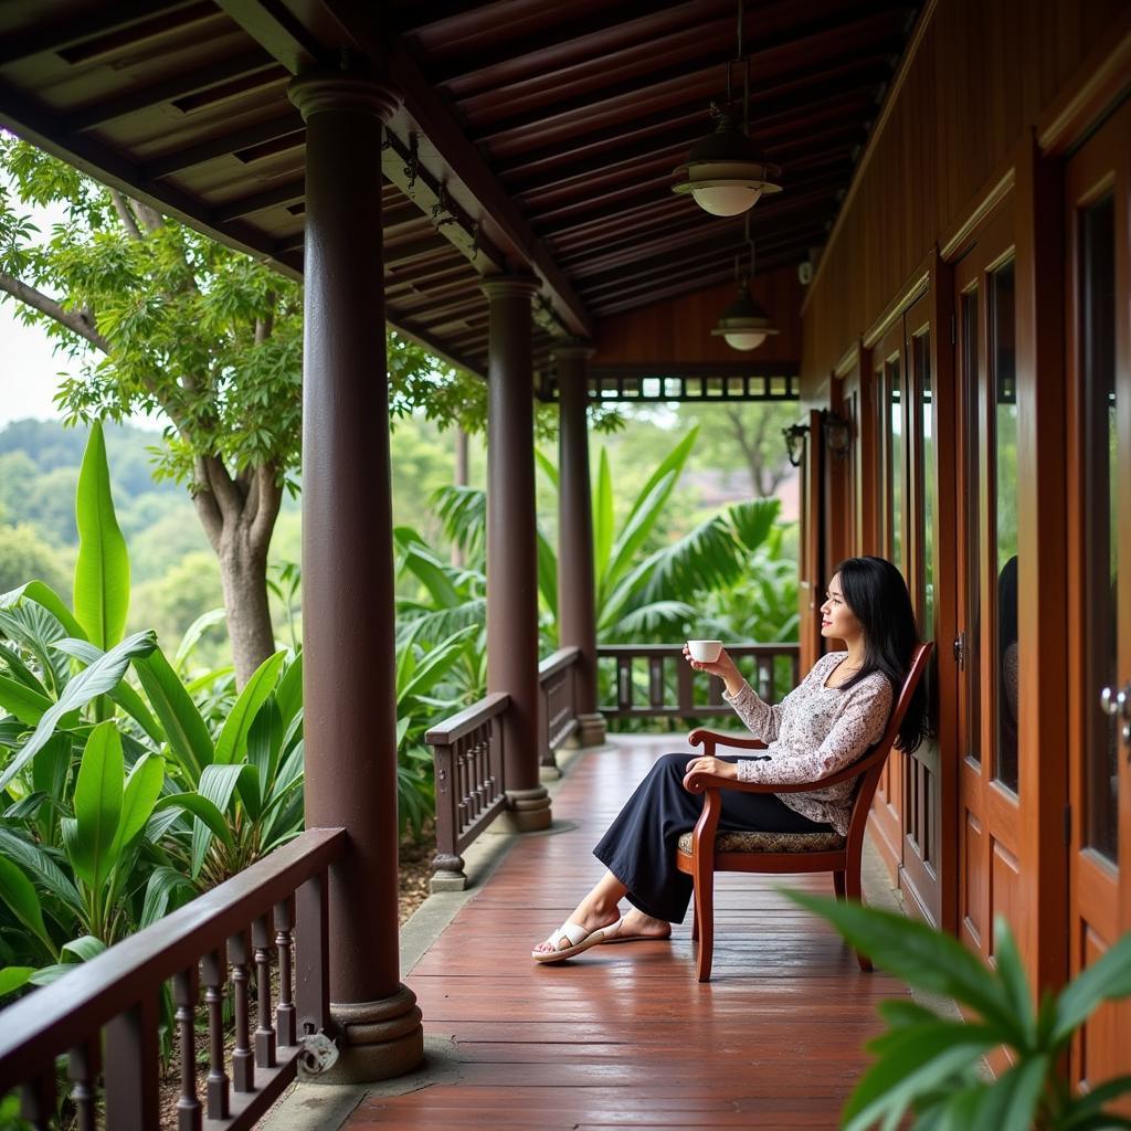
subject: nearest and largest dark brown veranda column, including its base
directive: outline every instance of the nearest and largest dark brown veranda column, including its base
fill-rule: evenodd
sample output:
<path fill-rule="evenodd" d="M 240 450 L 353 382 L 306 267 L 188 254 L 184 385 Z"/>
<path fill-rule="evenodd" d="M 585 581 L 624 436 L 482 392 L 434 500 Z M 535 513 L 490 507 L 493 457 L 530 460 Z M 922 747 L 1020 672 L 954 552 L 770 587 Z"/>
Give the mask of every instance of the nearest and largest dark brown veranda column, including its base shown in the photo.
<path fill-rule="evenodd" d="M 331 1082 L 423 1059 L 400 984 L 389 397 L 381 259 L 382 123 L 391 88 L 296 78 L 307 122 L 302 579 L 308 827 L 349 840 L 330 878 Z M 326 1077 L 320 1078 L 326 1079 Z"/>

